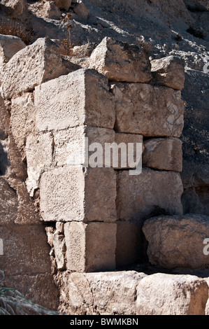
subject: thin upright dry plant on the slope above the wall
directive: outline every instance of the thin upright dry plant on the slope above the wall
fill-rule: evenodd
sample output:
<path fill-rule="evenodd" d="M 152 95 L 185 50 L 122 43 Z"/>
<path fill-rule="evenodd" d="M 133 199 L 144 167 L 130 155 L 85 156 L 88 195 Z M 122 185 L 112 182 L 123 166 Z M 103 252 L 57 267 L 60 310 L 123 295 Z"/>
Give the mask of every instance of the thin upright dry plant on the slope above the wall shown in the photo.
<path fill-rule="evenodd" d="M 71 29 L 73 29 L 72 23 L 72 14 L 67 13 L 63 17 L 60 18 L 61 22 L 66 24 L 66 29 L 68 32 L 67 38 L 62 40 L 62 44 L 60 46 L 60 50 L 62 55 L 71 55 L 71 49 L 73 48 L 72 40 L 71 40 Z"/>

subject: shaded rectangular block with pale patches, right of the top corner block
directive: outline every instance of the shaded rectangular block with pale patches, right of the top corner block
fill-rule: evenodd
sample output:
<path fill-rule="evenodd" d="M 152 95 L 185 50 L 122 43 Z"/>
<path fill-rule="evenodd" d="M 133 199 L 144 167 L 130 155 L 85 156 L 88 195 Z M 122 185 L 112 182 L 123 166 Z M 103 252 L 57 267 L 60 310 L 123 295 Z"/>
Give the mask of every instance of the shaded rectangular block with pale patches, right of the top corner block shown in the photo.
<path fill-rule="evenodd" d="M 117 83 L 113 93 L 117 132 L 180 137 L 184 125 L 180 91 L 143 83 Z"/>

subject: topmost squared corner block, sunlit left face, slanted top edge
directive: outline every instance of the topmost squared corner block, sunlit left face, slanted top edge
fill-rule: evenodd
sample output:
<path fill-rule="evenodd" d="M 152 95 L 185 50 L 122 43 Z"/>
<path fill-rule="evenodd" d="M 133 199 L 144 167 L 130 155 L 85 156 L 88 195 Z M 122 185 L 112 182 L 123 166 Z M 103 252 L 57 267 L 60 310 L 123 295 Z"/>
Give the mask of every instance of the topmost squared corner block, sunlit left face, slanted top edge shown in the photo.
<path fill-rule="evenodd" d="M 113 129 L 115 124 L 108 79 L 94 70 L 80 69 L 36 87 L 35 106 L 40 131 L 79 125 Z"/>

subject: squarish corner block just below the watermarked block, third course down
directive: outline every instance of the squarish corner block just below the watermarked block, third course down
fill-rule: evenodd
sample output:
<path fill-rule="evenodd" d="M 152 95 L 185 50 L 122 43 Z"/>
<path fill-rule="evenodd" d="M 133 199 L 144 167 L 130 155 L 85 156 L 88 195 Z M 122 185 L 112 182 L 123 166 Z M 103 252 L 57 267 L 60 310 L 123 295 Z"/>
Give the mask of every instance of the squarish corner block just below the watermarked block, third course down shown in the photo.
<path fill-rule="evenodd" d="M 44 221 L 116 219 L 116 174 L 113 168 L 59 167 L 44 172 L 40 183 Z"/>

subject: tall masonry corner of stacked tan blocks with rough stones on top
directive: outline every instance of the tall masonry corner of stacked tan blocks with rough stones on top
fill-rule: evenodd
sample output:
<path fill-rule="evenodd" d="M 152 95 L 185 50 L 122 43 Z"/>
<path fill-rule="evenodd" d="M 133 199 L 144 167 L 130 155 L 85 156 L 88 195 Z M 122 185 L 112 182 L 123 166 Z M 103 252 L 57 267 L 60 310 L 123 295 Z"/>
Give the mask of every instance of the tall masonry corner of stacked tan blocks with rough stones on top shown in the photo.
<path fill-rule="evenodd" d="M 27 159 L 27 189 L 31 197 L 37 193 L 40 197 L 43 221 L 63 227 L 52 239 L 55 266 L 75 272 L 114 270 L 142 257 L 141 228 L 147 218 L 182 214 L 179 137 L 184 103 L 179 89 L 183 74 L 180 87 L 173 85 L 175 69 L 183 71 L 182 62 L 165 59 L 166 83 L 160 80 L 157 85 L 152 83 L 151 64 L 142 48 L 105 38 L 89 57 L 90 69 L 61 75 L 64 66 L 59 55 L 55 65 L 56 45 L 50 48 L 54 55 L 47 57 L 51 43 L 38 39 L 17 52 L 5 65 L 3 76 L 4 97 L 13 97 L 13 120 L 20 109 L 22 120 L 29 123 L 21 138 L 18 125 L 13 127 L 22 157 Z M 40 64 L 30 59 L 21 83 L 8 88 L 14 63 L 18 56 L 27 60 L 31 47 L 49 58 L 52 67 L 48 62 L 43 65 L 41 58 Z M 31 69 L 37 72 L 36 80 L 30 76 Z M 134 80 L 132 71 L 136 71 Z M 25 99 L 29 104 L 24 111 Z M 89 144 L 102 146 L 142 143 L 141 174 L 131 176 L 129 166 L 115 166 L 112 160 L 105 167 L 104 158 L 100 167 L 83 167 L 88 151 L 85 137 Z M 90 156 L 91 152 L 88 160 Z"/>

